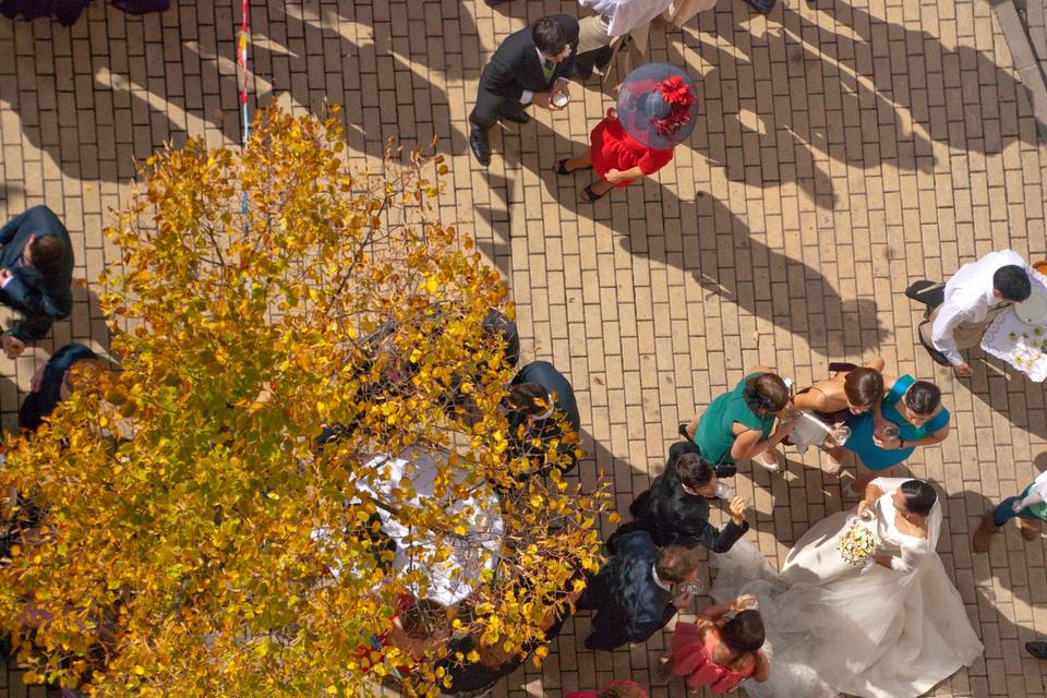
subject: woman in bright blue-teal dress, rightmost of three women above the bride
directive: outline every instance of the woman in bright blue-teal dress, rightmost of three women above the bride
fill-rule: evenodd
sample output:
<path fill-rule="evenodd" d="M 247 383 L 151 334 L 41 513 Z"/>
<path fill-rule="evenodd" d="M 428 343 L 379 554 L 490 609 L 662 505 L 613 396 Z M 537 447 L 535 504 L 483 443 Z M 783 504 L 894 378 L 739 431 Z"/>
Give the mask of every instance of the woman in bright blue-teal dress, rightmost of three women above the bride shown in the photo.
<path fill-rule="evenodd" d="M 845 423 L 851 437 L 844 448 L 870 471 L 851 483 L 857 494 L 883 470 L 908 458 L 916 446 L 938 444 L 949 436 L 949 410 L 941 406 L 941 390 L 911 375 L 894 381 L 871 411 L 854 414 Z"/>

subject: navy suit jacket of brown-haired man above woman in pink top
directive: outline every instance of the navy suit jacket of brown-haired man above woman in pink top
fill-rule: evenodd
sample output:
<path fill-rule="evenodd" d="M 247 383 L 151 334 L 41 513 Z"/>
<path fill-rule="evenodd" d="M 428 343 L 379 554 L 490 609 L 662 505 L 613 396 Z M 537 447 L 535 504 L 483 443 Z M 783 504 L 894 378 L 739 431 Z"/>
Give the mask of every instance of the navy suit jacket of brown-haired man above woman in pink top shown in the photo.
<path fill-rule="evenodd" d="M 619 618 L 623 639 L 642 642 L 676 615 L 673 594 L 654 581 L 658 546 L 647 531 L 634 531 L 619 535 L 611 553 L 577 606 Z"/>

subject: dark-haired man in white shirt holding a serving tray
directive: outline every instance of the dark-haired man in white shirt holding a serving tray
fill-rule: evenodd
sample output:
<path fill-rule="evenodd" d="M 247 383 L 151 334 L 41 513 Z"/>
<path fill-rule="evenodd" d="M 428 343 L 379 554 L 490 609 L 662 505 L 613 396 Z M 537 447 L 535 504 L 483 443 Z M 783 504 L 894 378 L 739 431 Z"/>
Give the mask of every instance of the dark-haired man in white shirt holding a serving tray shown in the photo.
<path fill-rule="evenodd" d="M 928 306 L 919 341 L 931 359 L 967 377 L 973 371 L 960 352 L 977 347 L 996 316 L 1027 299 L 1031 290 L 1025 261 L 1013 250 L 1002 250 L 964 264 L 943 289 L 917 281 L 905 294 Z"/>

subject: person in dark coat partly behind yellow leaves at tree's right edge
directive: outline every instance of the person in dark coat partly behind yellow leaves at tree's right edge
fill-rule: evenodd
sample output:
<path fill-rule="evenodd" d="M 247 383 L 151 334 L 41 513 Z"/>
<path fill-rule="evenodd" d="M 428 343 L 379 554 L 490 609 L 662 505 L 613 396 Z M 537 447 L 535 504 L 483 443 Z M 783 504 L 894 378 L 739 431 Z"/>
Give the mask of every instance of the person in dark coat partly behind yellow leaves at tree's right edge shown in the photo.
<path fill-rule="evenodd" d="M 581 417 L 575 390 L 563 373 L 547 361 L 532 361 L 514 376 L 506 400 L 509 409 L 509 440 L 514 456 L 531 460 L 530 474 L 546 474 L 552 469 L 545 466 L 545 444 L 558 440 L 557 453 L 567 459 L 561 466 L 568 472 L 578 465 L 575 453 Z M 561 424 L 566 422 L 573 434 L 565 434 Z M 535 440 L 541 444 L 534 445 Z"/>

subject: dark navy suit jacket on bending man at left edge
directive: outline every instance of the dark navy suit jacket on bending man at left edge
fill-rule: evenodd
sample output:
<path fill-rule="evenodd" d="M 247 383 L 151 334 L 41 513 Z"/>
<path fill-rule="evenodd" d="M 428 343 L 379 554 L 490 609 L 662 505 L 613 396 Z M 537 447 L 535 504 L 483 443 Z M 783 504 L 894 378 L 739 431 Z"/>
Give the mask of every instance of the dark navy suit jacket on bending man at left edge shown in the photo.
<path fill-rule="evenodd" d="M 41 274 L 35 267 L 20 264 L 25 245 L 34 233 L 56 236 L 62 241 L 65 252 L 57 270 Z M 3 245 L 0 267 L 14 274 L 14 278 L 0 289 L 0 302 L 25 315 L 11 334 L 23 341 L 39 339 L 50 328 L 50 321 L 69 317 L 73 308 L 73 248 L 69 232 L 50 208 L 34 206 L 0 228 L 0 245 Z"/>

